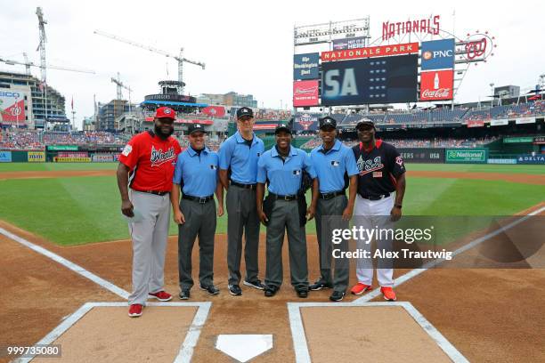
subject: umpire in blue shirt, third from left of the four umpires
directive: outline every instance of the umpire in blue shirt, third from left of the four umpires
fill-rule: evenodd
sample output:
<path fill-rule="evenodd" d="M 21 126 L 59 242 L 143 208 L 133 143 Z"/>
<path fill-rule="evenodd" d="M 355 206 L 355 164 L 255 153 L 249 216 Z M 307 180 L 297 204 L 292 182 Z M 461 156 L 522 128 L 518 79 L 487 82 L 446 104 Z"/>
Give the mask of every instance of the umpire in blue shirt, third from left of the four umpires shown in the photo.
<path fill-rule="evenodd" d="M 257 172 L 257 211 L 261 222 L 267 226 L 265 296 L 273 296 L 282 284 L 282 245 L 284 232 L 288 230 L 289 270 L 291 285 L 299 297 L 308 295 L 308 266 L 306 261 L 305 224 L 301 214 L 311 219 L 315 206 L 301 210 L 305 193 L 299 193 L 304 171 L 313 179 L 313 195 L 318 181 L 310 157 L 305 151 L 290 145 L 291 130 L 279 126 L 275 130 L 276 146 L 259 157 Z M 265 201 L 264 187 L 268 183 L 269 194 Z M 304 204 L 306 206 L 306 204 Z M 304 208 L 304 207 L 303 207 Z"/>

